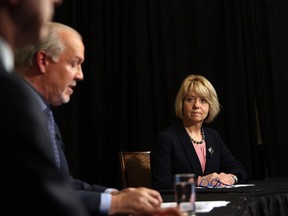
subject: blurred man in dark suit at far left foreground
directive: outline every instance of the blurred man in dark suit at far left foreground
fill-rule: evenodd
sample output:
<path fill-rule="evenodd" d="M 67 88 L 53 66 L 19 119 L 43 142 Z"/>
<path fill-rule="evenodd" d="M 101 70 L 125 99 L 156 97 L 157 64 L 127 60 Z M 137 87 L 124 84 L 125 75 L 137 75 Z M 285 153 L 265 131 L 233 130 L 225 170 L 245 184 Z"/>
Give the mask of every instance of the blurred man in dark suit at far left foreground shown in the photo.
<path fill-rule="evenodd" d="M 14 49 L 38 41 L 60 3 L 0 0 L 1 211 L 8 215 L 86 215 L 53 163 L 35 93 L 13 74 Z"/>

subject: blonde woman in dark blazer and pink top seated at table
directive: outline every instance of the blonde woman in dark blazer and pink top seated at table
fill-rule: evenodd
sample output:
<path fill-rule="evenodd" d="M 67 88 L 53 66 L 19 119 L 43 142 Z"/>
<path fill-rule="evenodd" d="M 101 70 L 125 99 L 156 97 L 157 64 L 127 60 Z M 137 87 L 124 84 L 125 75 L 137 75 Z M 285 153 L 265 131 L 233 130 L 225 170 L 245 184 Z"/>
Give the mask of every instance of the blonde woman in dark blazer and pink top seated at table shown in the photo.
<path fill-rule="evenodd" d="M 245 168 L 219 133 L 203 126 L 213 121 L 219 110 L 217 93 L 205 77 L 184 79 L 175 100 L 179 122 L 161 132 L 151 150 L 153 188 L 172 189 L 178 173 L 194 173 L 197 185 L 215 178 L 227 185 L 246 180 Z"/>

